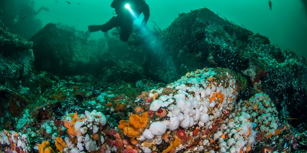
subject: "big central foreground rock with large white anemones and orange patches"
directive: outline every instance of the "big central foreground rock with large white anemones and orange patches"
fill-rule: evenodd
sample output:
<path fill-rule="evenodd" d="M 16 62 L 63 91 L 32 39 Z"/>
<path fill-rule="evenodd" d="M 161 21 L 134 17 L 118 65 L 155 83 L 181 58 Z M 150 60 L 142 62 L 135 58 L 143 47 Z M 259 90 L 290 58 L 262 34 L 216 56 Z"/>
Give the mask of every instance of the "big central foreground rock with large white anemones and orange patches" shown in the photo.
<path fill-rule="evenodd" d="M 165 90 L 169 92 L 164 92 Z M 141 96 L 142 99 L 136 103 L 144 107 L 146 114 L 149 111 L 161 113 L 163 108 L 167 116 L 153 113 L 146 128 L 138 130 L 140 134 L 128 136 L 136 138 L 139 148 L 143 151 L 169 152 L 189 148 L 196 148 L 198 151 L 214 150 L 214 146 L 218 145 L 217 138 L 222 136 L 221 131 L 225 130 L 221 125 L 228 122 L 229 113 L 224 112 L 233 109 L 237 94 L 236 81 L 227 69 L 202 69 L 187 73 L 165 88 L 151 90 L 147 96 L 155 97 L 152 102 L 143 100 L 145 95 Z M 131 116 L 129 122 L 136 122 Z M 121 122 L 119 128 L 123 129 L 125 134 L 128 131 L 133 132 L 124 124 L 127 121 Z M 206 129 L 209 131 L 204 133 Z M 248 139 L 249 135 L 246 137 Z M 170 141 L 162 143 L 166 139 Z M 199 146 L 199 142 L 210 139 L 213 140 L 210 146 L 206 143 Z M 240 146 L 236 148 L 237 151 L 242 149 L 243 144 Z"/>

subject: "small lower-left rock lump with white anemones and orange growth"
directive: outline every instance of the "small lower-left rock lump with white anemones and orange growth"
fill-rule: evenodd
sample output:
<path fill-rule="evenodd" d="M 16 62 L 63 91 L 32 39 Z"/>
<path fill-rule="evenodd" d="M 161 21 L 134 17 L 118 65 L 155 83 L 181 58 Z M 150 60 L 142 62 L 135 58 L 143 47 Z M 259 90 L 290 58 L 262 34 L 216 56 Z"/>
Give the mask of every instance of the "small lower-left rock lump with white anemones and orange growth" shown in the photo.
<path fill-rule="evenodd" d="M 64 119 L 68 135 L 64 138 L 66 147 L 61 147 L 64 152 L 77 148 L 80 151 L 97 151 L 104 143 L 102 127 L 106 125 L 106 117 L 101 112 L 93 110 L 84 114 L 69 114 Z M 62 145 L 63 146 L 63 145 Z"/>

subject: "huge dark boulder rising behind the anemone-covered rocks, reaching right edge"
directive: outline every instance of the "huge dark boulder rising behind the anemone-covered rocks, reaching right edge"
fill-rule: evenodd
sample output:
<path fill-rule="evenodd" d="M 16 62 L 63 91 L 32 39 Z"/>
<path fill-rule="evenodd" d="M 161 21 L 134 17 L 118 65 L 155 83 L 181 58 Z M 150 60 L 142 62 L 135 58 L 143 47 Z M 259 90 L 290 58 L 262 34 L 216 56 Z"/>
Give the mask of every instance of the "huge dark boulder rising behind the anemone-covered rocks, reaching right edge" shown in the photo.
<path fill-rule="evenodd" d="M 288 109 L 284 118 L 307 121 L 306 60 L 209 9 L 180 14 L 150 48 L 145 73 L 156 81 L 170 83 L 205 66 L 229 68 L 247 79 L 239 96 L 268 93 L 279 111 Z"/>

